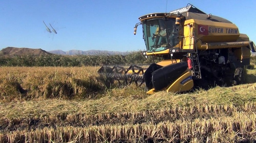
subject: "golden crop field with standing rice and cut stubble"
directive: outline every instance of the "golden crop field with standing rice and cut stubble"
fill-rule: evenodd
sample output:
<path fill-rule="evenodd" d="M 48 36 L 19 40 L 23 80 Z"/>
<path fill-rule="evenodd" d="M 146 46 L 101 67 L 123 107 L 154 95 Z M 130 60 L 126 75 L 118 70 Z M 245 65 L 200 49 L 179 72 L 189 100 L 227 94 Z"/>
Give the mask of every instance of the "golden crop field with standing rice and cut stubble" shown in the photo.
<path fill-rule="evenodd" d="M 153 95 L 97 69 L 1 67 L 0 142 L 256 141 L 254 65 L 246 84 Z"/>

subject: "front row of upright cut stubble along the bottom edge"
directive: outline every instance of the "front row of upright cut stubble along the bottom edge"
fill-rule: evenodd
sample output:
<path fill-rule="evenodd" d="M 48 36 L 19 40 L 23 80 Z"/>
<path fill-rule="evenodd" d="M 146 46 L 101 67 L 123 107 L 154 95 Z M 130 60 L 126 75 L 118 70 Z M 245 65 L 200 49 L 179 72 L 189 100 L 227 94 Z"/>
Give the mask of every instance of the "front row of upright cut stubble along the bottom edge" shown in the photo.
<path fill-rule="evenodd" d="M 0 142 L 112 142 L 160 138 L 167 141 L 238 142 L 255 139 L 256 115 L 237 112 L 232 117 L 164 121 L 158 124 L 101 125 L 88 127 L 56 127 L 17 130 L 0 133 Z"/>

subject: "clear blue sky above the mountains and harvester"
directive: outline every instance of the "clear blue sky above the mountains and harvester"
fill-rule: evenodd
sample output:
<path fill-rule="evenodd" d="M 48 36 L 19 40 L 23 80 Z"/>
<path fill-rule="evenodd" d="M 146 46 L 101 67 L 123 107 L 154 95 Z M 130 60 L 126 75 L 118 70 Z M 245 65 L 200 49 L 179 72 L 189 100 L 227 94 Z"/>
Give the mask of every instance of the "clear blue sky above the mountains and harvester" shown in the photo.
<path fill-rule="evenodd" d="M 144 50 L 141 25 L 133 35 L 138 18 L 166 12 L 166 7 L 170 12 L 187 3 L 207 14 L 226 18 L 256 42 L 255 0 L 2 0 L 0 50 Z M 58 33 L 48 33 L 43 20 Z"/>

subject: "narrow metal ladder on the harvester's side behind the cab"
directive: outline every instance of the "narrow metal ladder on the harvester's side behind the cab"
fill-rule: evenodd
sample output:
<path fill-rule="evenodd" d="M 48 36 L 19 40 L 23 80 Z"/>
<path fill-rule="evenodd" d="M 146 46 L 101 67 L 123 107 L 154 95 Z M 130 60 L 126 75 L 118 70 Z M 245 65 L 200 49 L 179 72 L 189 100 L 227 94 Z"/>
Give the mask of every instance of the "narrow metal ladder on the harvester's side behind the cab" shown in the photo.
<path fill-rule="evenodd" d="M 195 31 L 194 31 L 194 38 L 196 39 Z M 201 77 L 201 70 L 200 70 L 200 62 L 198 59 L 198 52 L 197 52 L 197 44 L 196 40 L 194 40 L 194 45 L 196 47 L 196 50 L 194 50 L 193 53 L 190 53 L 190 58 L 192 60 L 192 75 L 196 78 L 202 78 Z"/>

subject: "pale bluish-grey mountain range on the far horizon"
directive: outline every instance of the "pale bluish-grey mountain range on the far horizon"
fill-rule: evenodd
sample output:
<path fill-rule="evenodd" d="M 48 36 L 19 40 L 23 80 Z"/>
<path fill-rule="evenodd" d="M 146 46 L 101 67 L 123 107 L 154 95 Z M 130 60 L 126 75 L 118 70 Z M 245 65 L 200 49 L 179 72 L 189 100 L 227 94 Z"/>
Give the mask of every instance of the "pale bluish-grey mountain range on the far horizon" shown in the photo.
<path fill-rule="evenodd" d="M 117 51 L 101 51 L 101 50 L 69 50 L 64 52 L 62 50 L 48 51 L 49 53 L 59 54 L 59 55 L 127 55 L 129 52 L 117 52 Z"/>

